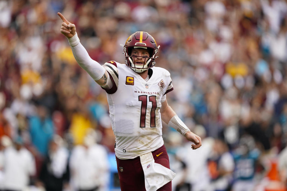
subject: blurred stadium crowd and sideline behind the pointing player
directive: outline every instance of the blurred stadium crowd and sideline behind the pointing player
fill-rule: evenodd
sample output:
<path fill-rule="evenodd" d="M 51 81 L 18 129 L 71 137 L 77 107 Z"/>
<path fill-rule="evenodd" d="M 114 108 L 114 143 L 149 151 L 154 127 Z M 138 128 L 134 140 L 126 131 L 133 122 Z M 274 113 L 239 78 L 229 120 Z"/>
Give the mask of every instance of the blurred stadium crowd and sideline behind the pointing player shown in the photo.
<path fill-rule="evenodd" d="M 0 190 L 120 190 L 106 93 L 60 33 L 61 12 L 100 64 L 130 34 L 160 44 L 175 191 L 286 190 L 285 0 L 0 0 Z"/>

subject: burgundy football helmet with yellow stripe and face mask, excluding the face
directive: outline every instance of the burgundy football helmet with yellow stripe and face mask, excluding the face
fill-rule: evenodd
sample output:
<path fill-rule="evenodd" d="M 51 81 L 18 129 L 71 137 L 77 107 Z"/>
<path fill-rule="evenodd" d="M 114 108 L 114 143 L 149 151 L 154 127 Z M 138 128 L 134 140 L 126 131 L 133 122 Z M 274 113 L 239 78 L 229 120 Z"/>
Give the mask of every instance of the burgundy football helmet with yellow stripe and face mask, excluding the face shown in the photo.
<path fill-rule="evenodd" d="M 155 39 L 147 32 L 138 31 L 133 33 L 126 40 L 126 44 L 123 46 L 123 51 L 126 57 L 125 64 L 132 68 L 135 72 L 143 72 L 155 65 L 156 54 L 158 53 L 158 48 Z M 143 48 L 149 51 L 149 57 L 146 56 L 132 56 L 133 48 Z M 135 58 L 144 58 L 144 65 L 135 64 Z"/>

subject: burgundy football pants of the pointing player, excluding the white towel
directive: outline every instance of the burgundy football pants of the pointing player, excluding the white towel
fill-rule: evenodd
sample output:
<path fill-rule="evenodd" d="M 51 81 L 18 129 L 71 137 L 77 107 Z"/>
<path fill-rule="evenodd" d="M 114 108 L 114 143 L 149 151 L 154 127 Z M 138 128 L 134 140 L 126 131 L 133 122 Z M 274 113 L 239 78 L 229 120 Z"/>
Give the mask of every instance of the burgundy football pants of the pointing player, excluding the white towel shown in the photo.
<path fill-rule="evenodd" d="M 170 169 L 170 161 L 164 145 L 153 151 L 152 156 L 155 159 L 155 163 Z M 122 191 L 146 191 L 144 185 L 144 170 L 141 166 L 140 157 L 126 160 L 121 160 L 116 157 L 116 159 L 117 172 L 120 178 L 120 189 Z M 122 167 L 123 172 L 120 171 L 119 167 Z M 160 187 L 158 191 L 171 191 L 171 181 Z"/>

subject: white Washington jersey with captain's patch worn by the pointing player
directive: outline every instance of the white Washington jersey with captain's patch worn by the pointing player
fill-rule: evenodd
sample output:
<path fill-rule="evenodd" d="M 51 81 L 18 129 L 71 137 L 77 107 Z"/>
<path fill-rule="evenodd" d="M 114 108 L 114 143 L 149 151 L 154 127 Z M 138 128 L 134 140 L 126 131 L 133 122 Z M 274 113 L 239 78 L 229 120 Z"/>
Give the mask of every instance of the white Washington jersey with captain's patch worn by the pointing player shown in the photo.
<path fill-rule="evenodd" d="M 113 81 L 107 92 L 112 129 L 116 136 L 116 156 L 130 159 L 161 147 L 164 141 L 161 102 L 173 90 L 170 73 L 160 67 L 149 69 L 145 81 L 125 64 L 106 62 L 103 67 Z"/>

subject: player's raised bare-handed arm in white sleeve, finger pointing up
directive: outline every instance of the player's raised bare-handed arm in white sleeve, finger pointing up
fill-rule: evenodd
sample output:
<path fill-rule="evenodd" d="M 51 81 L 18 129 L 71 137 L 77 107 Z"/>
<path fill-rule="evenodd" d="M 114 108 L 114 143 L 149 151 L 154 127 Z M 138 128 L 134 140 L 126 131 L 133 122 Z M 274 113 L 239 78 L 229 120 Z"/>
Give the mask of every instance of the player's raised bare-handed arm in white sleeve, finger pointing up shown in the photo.
<path fill-rule="evenodd" d="M 112 82 L 108 72 L 88 55 L 88 52 L 80 43 L 76 26 L 69 22 L 61 13 L 58 13 L 58 15 L 63 21 L 60 32 L 68 38 L 73 55 L 80 67 L 86 70 L 100 86 L 103 86 L 105 89 L 111 88 Z"/>

